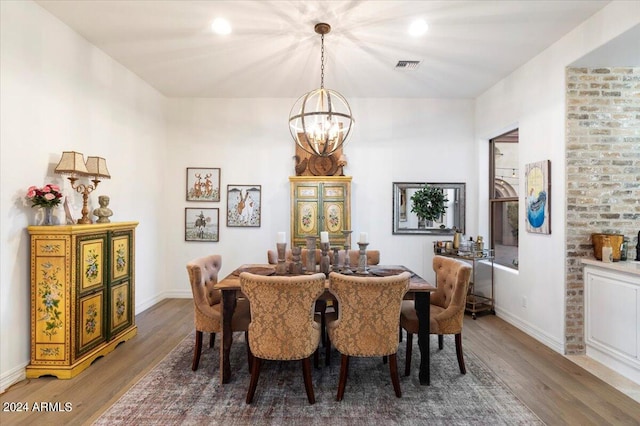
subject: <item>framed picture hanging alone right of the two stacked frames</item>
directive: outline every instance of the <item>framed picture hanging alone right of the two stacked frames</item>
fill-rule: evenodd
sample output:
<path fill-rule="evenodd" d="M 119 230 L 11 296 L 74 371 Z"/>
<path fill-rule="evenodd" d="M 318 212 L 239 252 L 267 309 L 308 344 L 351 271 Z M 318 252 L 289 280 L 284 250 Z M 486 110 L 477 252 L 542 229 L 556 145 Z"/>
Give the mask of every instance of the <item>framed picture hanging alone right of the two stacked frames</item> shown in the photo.
<path fill-rule="evenodd" d="M 262 187 L 227 185 L 227 226 L 259 227 Z"/>

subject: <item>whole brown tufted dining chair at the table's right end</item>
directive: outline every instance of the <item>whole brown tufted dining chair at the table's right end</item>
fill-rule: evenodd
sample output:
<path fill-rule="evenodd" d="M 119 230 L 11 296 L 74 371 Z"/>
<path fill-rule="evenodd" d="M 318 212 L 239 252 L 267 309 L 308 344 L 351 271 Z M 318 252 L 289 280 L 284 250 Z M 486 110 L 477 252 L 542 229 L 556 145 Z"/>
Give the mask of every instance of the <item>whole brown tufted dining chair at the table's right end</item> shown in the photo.
<path fill-rule="evenodd" d="M 462 353 L 462 323 L 465 302 L 471 277 L 471 266 L 451 257 L 434 256 L 433 270 L 436 273 L 436 291 L 430 295 L 430 334 L 438 335 L 438 348 L 443 347 L 443 335 L 453 334 L 460 373 L 466 374 Z M 400 325 L 407 331 L 407 353 L 404 375 L 411 374 L 411 349 L 413 335 L 418 333 L 418 315 L 413 300 L 402 302 Z"/>

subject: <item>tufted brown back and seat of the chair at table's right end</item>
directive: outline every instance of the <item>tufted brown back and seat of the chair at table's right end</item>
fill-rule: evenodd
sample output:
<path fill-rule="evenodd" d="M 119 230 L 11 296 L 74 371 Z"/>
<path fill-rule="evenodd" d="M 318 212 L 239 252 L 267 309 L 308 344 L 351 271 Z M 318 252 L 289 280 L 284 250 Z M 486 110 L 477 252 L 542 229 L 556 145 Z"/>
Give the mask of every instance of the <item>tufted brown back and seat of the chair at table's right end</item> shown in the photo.
<path fill-rule="evenodd" d="M 431 333 L 456 334 L 462 330 L 471 266 L 451 257 L 434 256 L 436 291 L 431 293 L 432 310 L 436 315 Z M 433 306 L 443 308 L 434 309 Z"/>

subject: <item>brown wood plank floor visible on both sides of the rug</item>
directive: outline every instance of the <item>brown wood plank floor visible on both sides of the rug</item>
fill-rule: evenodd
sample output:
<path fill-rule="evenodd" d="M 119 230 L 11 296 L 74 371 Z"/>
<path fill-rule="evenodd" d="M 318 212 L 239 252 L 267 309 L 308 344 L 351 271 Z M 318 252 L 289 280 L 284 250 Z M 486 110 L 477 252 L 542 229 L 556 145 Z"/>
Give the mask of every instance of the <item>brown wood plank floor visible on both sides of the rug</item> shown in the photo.
<path fill-rule="evenodd" d="M 71 404 L 67 412 L 0 412 L 6 425 L 91 424 L 193 331 L 189 299 L 168 299 L 136 316 L 138 336 L 71 380 L 24 380 L 5 402 Z M 640 425 L 640 404 L 498 317 L 465 318 L 463 346 L 473 351 L 549 425 Z M 239 404 L 244 401 L 238 401 Z"/>

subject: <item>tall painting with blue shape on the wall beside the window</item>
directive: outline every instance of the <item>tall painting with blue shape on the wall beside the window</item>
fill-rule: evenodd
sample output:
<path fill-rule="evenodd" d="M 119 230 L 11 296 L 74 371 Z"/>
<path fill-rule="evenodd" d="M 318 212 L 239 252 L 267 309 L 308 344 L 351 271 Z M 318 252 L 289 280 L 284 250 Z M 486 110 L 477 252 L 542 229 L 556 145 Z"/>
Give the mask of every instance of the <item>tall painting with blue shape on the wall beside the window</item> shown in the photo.
<path fill-rule="evenodd" d="M 551 162 L 529 163 L 525 173 L 527 231 L 551 234 Z"/>

